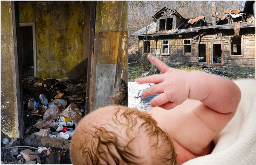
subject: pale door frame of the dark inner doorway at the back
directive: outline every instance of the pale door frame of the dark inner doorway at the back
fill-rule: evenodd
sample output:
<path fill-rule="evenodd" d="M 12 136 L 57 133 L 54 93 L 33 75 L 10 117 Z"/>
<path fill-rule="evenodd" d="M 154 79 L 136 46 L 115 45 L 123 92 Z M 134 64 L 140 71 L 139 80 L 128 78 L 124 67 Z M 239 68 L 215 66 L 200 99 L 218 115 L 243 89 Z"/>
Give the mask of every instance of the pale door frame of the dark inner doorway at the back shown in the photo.
<path fill-rule="evenodd" d="M 33 60 L 34 60 L 34 77 L 37 77 L 37 46 L 36 46 L 36 37 L 35 37 L 35 22 L 26 22 L 20 23 L 22 26 L 32 26 L 32 35 L 33 35 Z"/>

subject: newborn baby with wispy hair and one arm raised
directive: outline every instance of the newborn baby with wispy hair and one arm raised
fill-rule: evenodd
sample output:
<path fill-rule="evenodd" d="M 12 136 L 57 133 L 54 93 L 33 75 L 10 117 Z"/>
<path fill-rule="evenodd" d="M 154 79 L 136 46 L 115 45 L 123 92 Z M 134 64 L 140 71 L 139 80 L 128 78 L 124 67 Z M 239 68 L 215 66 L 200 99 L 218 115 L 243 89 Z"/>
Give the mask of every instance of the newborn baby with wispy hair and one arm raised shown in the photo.
<path fill-rule="evenodd" d="M 109 106 L 84 117 L 72 137 L 74 165 L 180 165 L 211 153 L 212 140 L 236 112 L 240 89 L 223 77 L 171 69 L 148 58 L 162 74 L 136 82 L 155 83 L 142 94 L 159 94 L 153 108 Z"/>

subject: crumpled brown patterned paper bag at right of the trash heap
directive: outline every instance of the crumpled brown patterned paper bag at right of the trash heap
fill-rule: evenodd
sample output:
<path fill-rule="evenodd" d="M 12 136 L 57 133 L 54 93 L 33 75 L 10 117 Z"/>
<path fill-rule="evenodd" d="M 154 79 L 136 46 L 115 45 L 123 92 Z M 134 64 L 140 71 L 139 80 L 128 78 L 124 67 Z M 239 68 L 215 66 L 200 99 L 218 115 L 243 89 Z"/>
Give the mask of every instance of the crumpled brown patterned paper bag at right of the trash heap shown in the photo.
<path fill-rule="evenodd" d="M 59 117 L 60 115 L 70 118 L 76 124 L 78 124 L 78 122 L 82 119 L 82 113 L 74 103 L 69 104 L 69 106 L 62 113 L 59 114 Z"/>

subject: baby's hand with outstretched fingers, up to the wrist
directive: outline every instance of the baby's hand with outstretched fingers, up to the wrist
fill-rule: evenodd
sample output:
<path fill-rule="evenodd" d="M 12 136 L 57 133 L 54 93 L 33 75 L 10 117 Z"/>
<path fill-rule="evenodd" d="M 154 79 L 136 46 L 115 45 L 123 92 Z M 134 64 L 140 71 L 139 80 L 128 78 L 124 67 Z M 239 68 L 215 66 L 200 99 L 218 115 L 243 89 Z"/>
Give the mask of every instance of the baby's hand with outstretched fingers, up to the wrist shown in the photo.
<path fill-rule="evenodd" d="M 151 106 L 159 106 L 163 109 L 173 109 L 183 103 L 188 98 L 190 90 L 189 83 L 186 82 L 187 72 L 171 69 L 152 55 L 149 55 L 148 59 L 161 70 L 162 74 L 136 80 L 138 84 L 155 83 L 155 85 L 143 92 L 142 97 L 159 94 L 151 101 Z"/>

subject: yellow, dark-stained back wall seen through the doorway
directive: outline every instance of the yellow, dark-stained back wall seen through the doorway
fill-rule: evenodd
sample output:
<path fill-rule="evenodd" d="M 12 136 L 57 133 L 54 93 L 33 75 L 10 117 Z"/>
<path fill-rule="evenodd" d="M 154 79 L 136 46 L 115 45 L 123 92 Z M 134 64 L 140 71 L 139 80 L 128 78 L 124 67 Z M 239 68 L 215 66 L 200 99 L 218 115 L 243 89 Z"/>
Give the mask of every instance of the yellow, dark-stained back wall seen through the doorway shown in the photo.
<path fill-rule="evenodd" d="M 20 22 L 36 23 L 37 78 L 65 78 L 82 61 L 83 3 L 31 4 L 21 6 Z"/>

